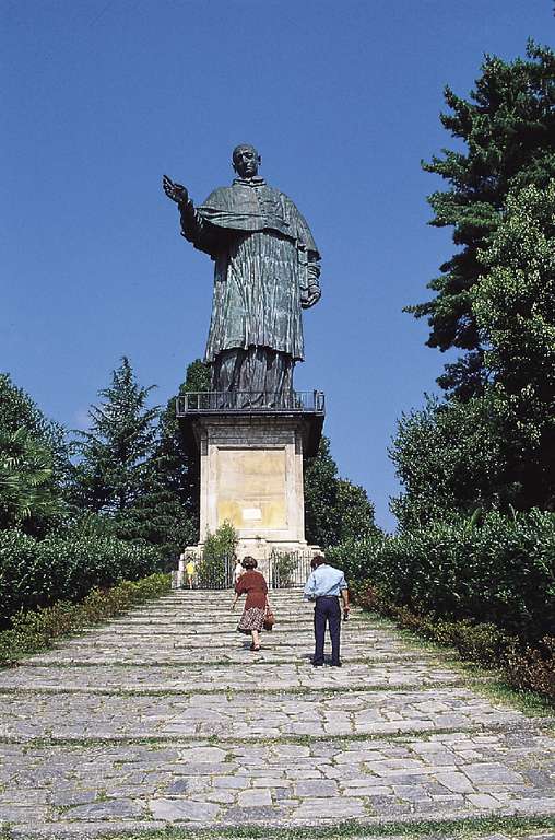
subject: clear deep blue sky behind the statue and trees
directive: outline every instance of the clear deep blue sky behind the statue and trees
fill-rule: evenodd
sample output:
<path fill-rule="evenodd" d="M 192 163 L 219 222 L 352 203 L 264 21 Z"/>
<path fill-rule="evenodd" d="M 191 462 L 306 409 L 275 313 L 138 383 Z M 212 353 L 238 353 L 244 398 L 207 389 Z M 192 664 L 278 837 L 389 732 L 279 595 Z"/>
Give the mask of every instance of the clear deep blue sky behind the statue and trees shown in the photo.
<path fill-rule="evenodd" d="M 485 51 L 553 37 L 551 0 L 0 0 L 0 370 L 83 428 L 122 354 L 165 402 L 202 354 L 212 266 L 178 235 L 160 182 L 201 201 L 238 142 L 308 218 L 322 299 L 297 389 L 328 398 L 340 472 L 389 528 L 387 448 L 446 361 L 402 314 L 451 250 L 426 225 Z"/>

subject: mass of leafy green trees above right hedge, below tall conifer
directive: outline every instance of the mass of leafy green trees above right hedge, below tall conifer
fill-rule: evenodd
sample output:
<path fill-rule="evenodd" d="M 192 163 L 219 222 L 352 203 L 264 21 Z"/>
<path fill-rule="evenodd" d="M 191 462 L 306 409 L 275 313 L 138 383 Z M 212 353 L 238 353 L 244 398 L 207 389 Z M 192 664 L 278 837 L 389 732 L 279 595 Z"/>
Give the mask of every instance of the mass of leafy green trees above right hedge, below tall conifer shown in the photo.
<path fill-rule="evenodd" d="M 403 528 L 476 506 L 555 508 L 555 180 L 509 197 L 471 294 L 487 381 L 398 423 Z"/>

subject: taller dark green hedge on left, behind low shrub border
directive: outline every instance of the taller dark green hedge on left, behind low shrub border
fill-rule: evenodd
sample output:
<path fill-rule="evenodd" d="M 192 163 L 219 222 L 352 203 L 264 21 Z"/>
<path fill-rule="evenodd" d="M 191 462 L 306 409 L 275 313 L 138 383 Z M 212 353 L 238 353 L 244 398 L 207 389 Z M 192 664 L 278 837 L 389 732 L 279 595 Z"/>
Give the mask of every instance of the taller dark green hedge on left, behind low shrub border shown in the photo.
<path fill-rule="evenodd" d="M 0 532 L 0 628 L 21 609 L 80 600 L 160 571 L 160 550 L 109 536 L 50 536 L 36 540 L 20 530 Z"/>

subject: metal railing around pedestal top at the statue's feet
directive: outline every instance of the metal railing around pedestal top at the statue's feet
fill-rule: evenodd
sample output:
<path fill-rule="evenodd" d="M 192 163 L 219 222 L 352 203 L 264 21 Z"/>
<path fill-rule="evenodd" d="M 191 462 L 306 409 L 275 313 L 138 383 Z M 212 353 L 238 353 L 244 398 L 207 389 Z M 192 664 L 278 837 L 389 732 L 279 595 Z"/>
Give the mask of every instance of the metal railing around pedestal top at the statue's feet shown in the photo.
<path fill-rule="evenodd" d="M 326 396 L 321 390 L 294 390 L 274 394 L 265 390 L 200 390 L 177 397 L 177 417 L 211 411 L 326 411 Z"/>

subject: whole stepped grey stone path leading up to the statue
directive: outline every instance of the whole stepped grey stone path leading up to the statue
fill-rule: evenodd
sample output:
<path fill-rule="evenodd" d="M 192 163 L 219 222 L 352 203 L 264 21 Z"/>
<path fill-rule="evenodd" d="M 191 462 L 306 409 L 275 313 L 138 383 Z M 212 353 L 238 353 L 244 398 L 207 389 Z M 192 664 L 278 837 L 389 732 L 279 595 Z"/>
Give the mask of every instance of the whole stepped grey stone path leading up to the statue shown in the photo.
<path fill-rule="evenodd" d="M 176 592 L 0 672 L 10 833 L 262 824 L 316 837 L 351 819 L 387 835 L 555 816 L 553 720 L 486 699 L 446 656 L 357 610 L 343 667 L 312 668 L 296 592 L 273 595 L 278 623 L 251 653 L 231 600 Z"/>

